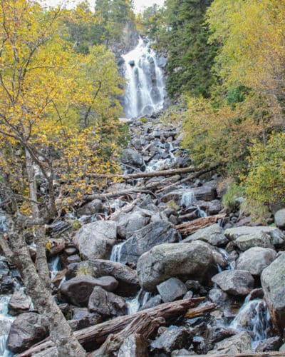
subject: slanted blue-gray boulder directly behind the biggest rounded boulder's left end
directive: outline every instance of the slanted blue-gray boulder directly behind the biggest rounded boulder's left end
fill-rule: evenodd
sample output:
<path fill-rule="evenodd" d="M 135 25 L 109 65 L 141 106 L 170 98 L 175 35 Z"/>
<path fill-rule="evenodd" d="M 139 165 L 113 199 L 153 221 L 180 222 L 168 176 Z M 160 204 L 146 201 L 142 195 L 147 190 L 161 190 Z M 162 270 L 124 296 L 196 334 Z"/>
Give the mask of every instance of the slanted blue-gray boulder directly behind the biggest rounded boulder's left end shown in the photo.
<path fill-rule="evenodd" d="M 138 258 L 153 246 L 176 241 L 175 228 L 167 221 L 150 223 L 123 243 L 120 250 L 120 261 L 136 263 Z"/>

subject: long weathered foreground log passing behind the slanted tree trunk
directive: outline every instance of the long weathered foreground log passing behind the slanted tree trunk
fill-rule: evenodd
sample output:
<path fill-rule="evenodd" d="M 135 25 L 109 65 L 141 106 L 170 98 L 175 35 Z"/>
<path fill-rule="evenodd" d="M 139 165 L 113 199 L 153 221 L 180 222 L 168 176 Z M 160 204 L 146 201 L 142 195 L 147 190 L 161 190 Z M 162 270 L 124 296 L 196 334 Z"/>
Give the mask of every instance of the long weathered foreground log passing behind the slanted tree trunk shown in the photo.
<path fill-rule="evenodd" d="M 133 313 L 133 315 L 120 316 L 110 321 L 98 323 L 98 325 L 95 326 L 83 328 L 82 330 L 75 331 L 74 335 L 87 351 L 94 351 L 95 348 L 99 348 L 102 343 L 105 342 L 110 334 L 119 333 L 135 318 L 144 316 L 145 313 L 151 318 L 165 318 L 165 321 L 168 321 L 170 318 L 175 318 L 185 314 L 186 312 L 189 313 L 190 308 L 192 308 L 193 313 L 195 313 L 195 311 L 199 311 L 201 314 L 203 313 L 203 309 L 204 311 L 209 311 L 209 308 L 212 310 L 216 308 L 216 304 L 214 303 L 209 303 L 207 305 L 198 306 L 195 308 L 195 306 L 197 306 L 197 304 L 202 301 L 204 301 L 203 297 L 187 298 L 185 300 L 172 301 L 171 303 L 162 303 L 159 306 L 155 306 L 154 308 L 147 308 L 146 310 L 139 311 L 138 313 Z M 32 356 L 32 354 L 52 347 L 52 341 L 44 341 L 19 354 L 18 357 Z"/>

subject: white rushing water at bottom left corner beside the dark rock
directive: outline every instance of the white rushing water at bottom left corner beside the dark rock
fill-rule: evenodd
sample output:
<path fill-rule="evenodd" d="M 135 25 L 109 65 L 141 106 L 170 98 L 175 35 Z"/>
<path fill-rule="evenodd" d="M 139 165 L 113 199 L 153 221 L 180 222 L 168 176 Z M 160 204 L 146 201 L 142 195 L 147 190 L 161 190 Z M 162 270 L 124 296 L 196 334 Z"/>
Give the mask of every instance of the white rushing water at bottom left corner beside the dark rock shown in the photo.
<path fill-rule="evenodd" d="M 9 357 L 11 353 L 6 350 L 6 340 L 8 338 L 11 324 L 15 320 L 8 314 L 8 303 L 11 295 L 0 296 L 0 357 Z"/>

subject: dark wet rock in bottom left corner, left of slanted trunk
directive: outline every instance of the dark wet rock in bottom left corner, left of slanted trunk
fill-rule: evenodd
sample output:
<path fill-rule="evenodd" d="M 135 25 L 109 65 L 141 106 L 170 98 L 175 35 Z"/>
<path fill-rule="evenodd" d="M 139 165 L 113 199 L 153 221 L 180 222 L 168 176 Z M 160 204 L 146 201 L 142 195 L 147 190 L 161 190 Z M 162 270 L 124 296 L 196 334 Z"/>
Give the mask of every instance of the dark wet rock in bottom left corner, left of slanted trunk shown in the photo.
<path fill-rule="evenodd" d="M 12 323 L 6 346 L 14 353 L 21 353 L 47 336 L 48 328 L 43 326 L 38 313 L 22 313 Z"/>

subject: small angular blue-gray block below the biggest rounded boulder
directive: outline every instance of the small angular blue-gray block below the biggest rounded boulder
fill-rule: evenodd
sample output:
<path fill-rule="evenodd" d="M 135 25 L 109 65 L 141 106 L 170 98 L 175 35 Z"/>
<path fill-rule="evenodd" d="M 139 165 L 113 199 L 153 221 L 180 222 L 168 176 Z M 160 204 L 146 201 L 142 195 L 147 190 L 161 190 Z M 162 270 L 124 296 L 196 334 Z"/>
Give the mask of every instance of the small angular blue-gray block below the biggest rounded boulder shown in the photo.
<path fill-rule="evenodd" d="M 187 293 L 185 283 L 177 278 L 169 278 L 157 285 L 156 288 L 165 303 L 181 298 Z"/>

